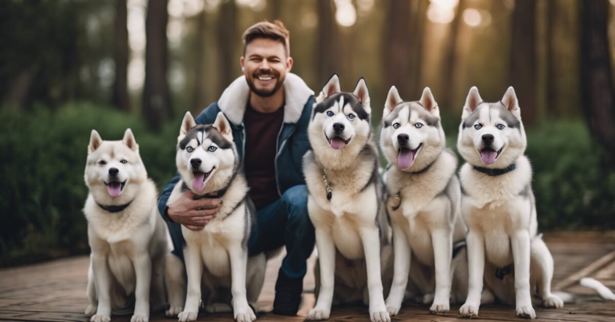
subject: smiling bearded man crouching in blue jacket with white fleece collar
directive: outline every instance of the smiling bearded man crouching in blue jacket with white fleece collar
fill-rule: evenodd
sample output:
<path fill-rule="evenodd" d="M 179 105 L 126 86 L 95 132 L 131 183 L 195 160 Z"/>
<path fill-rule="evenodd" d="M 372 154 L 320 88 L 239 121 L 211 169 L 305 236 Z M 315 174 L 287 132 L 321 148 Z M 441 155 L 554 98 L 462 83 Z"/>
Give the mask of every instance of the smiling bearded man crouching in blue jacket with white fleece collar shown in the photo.
<path fill-rule="evenodd" d="M 256 23 L 242 36 L 244 75 L 224 90 L 218 102 L 196 118 L 211 124 L 222 111 L 244 160 L 250 198 L 256 205 L 258 224 L 248 241 L 249 256 L 285 246 L 276 282 L 274 313 L 296 315 L 301 302 L 306 260 L 314 250 L 314 226 L 308 216 L 308 191 L 302 170 L 303 155 L 310 149 L 308 123 L 314 93 L 290 73 L 288 30 L 280 21 Z M 175 255 L 183 257 L 181 226 L 198 231 L 215 217 L 220 199 L 194 200 L 186 191 L 167 205 L 175 175 L 165 186 L 158 206 L 169 223 Z"/>

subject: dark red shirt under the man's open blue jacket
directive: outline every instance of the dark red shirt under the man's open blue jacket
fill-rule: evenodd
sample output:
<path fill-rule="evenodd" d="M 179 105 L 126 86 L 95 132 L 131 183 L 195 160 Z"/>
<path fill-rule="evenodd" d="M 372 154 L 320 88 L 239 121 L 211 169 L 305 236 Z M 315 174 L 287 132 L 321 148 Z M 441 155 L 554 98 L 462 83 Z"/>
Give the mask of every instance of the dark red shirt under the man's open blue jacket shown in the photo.
<path fill-rule="evenodd" d="M 261 113 L 248 102 L 244 114 L 245 177 L 250 199 L 262 209 L 280 199 L 276 184 L 277 136 L 284 122 L 284 105 L 272 113 Z"/>

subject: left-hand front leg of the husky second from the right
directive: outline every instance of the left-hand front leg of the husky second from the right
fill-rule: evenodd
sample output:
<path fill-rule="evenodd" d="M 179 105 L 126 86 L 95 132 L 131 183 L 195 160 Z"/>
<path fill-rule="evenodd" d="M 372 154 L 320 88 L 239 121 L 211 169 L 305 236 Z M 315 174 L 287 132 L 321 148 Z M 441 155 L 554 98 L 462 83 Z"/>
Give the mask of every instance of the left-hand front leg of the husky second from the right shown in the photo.
<path fill-rule="evenodd" d="M 410 261 L 412 250 L 403 230 L 392 225 L 393 228 L 393 283 L 391 291 L 386 299 L 386 310 L 390 315 L 397 315 L 402 307 L 403 296 L 408 286 L 408 274 L 410 274 Z"/>

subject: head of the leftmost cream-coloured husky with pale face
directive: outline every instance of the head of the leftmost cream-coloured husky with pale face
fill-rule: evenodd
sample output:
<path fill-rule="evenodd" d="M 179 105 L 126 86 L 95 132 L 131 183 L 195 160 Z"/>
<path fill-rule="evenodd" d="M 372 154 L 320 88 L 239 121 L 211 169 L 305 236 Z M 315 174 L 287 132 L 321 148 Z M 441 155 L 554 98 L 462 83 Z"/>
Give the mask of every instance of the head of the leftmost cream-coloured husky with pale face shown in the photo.
<path fill-rule="evenodd" d="M 126 129 L 121 141 L 103 141 L 92 130 L 84 178 L 99 203 L 122 204 L 137 196 L 138 186 L 147 180 L 148 174 L 130 129 Z"/>

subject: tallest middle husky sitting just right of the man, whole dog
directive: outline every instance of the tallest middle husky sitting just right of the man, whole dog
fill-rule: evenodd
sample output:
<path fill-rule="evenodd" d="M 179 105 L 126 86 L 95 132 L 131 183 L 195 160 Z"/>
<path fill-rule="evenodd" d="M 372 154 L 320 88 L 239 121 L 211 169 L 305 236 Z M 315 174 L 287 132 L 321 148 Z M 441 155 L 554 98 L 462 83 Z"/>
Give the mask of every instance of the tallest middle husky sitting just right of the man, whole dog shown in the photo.
<path fill-rule="evenodd" d="M 390 234 L 371 138 L 370 97 L 363 79 L 352 94 L 339 92 L 338 75 L 333 75 L 316 99 L 308 126 L 313 151 L 304 156 L 303 167 L 320 263 L 318 301 L 308 319 L 329 318 L 334 280 L 345 283 L 350 294 L 363 294 L 367 277 L 371 321 L 390 321 L 380 256 Z M 338 300 L 344 301 L 339 291 Z"/>

